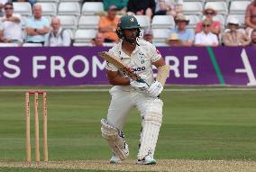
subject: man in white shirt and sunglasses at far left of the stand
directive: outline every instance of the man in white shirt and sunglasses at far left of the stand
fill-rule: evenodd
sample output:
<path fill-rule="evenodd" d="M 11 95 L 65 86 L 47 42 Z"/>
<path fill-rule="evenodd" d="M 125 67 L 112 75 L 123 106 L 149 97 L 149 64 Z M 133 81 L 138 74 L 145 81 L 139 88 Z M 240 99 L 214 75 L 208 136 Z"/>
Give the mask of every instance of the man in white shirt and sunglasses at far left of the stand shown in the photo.
<path fill-rule="evenodd" d="M 22 16 L 14 14 L 13 3 L 5 4 L 5 16 L 0 27 L 1 41 L 5 43 L 23 44 Z"/>

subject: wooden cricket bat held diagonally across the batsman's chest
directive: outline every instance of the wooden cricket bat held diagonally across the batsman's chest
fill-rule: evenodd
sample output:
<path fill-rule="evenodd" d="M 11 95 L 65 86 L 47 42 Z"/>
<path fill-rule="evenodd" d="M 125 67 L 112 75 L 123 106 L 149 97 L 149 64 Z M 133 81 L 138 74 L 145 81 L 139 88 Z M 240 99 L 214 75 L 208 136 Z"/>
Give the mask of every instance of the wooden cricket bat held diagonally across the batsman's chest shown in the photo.
<path fill-rule="evenodd" d="M 132 78 L 133 80 L 142 82 L 142 83 L 146 83 L 145 80 L 142 79 L 142 77 L 140 77 L 138 74 L 128 70 L 127 69 L 128 67 L 123 63 L 123 61 L 121 59 L 116 58 L 114 55 L 112 55 L 106 51 L 99 52 L 98 55 L 101 58 L 105 59 L 107 62 L 113 64 L 114 67 L 118 68 L 120 71 L 122 71 L 124 74 L 126 74 L 128 77 Z"/>

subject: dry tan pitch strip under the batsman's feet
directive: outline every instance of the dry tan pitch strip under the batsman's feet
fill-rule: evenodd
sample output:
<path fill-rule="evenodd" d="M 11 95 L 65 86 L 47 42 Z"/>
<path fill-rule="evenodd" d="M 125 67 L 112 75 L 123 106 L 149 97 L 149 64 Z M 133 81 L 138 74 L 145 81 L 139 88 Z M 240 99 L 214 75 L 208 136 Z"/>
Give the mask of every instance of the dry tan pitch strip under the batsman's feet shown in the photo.
<path fill-rule="evenodd" d="M 96 169 L 116 171 L 175 171 L 175 172 L 250 172 L 256 171 L 256 161 L 243 160 L 190 160 L 158 159 L 156 165 L 136 165 L 135 160 L 128 159 L 122 164 L 110 164 L 107 159 L 50 161 L 26 164 L 24 162 L 0 162 L 0 167 L 32 167 L 58 169 Z"/>

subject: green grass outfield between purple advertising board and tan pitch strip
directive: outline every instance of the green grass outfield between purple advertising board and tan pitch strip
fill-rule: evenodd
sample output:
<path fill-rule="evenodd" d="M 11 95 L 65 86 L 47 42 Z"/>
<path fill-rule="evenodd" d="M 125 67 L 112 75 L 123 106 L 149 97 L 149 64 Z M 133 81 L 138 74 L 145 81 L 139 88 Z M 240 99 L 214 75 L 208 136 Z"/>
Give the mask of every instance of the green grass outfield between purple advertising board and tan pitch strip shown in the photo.
<path fill-rule="evenodd" d="M 8 91 L 9 88 L 14 92 Z M 110 150 L 100 133 L 100 120 L 105 117 L 110 96 L 106 91 L 85 91 L 85 88 L 105 89 L 45 88 L 50 89 L 51 161 L 110 158 Z M 25 160 L 23 89 L 27 88 L 0 88 L 0 161 Z M 164 118 L 155 158 L 256 160 L 255 88 L 169 86 L 168 89 L 161 95 Z M 136 159 L 140 129 L 139 113 L 133 109 L 123 130 L 132 159 Z M 0 167 L 0 171 L 8 169 Z"/>

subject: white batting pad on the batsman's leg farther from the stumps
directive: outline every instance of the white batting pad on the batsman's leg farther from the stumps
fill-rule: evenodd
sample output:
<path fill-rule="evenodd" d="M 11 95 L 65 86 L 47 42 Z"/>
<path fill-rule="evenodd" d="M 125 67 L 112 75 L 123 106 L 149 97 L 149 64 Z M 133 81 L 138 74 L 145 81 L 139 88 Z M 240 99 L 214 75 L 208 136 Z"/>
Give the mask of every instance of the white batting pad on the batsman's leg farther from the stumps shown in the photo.
<path fill-rule="evenodd" d="M 138 153 L 138 159 L 142 159 L 147 155 L 153 158 L 159 137 L 161 122 L 162 102 L 160 99 L 157 99 L 142 115 L 141 145 Z"/>

